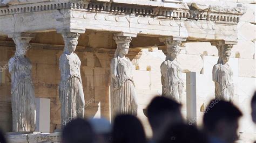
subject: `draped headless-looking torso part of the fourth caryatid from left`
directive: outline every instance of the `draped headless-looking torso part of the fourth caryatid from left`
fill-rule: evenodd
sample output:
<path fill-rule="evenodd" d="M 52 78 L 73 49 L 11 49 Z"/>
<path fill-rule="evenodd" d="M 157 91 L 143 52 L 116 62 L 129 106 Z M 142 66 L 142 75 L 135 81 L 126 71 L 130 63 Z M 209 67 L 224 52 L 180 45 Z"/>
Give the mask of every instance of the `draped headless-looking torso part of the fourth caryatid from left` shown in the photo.
<path fill-rule="evenodd" d="M 181 102 L 183 81 L 181 80 L 181 68 L 177 60 L 166 59 L 161 64 L 162 96 Z"/>

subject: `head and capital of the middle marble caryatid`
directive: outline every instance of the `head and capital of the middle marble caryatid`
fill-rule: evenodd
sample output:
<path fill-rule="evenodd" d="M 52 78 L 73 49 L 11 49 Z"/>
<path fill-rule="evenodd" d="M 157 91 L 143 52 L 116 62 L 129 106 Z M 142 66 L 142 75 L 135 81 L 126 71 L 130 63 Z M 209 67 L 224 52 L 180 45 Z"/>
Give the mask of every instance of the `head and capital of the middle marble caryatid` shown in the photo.
<path fill-rule="evenodd" d="M 129 52 L 130 42 L 132 40 L 131 37 L 114 37 L 114 40 L 117 44 L 116 52 L 114 53 L 114 57 L 127 55 Z"/>

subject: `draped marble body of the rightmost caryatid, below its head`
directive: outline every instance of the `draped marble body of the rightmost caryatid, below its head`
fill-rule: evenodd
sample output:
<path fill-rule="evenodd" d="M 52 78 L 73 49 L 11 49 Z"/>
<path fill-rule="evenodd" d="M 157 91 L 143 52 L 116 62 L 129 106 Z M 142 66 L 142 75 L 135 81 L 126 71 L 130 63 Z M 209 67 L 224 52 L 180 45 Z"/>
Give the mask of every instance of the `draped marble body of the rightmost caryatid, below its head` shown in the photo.
<path fill-rule="evenodd" d="M 231 67 L 228 63 L 225 65 L 219 63 L 214 65 L 212 74 L 215 82 L 215 97 L 233 102 L 234 84 Z"/>

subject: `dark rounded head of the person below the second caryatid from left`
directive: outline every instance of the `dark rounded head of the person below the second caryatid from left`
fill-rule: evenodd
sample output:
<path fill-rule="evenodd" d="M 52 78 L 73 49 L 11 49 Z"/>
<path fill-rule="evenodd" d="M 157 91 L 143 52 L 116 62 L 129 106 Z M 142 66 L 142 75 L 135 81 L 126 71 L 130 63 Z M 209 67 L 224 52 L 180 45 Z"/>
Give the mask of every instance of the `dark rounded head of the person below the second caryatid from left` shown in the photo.
<path fill-rule="evenodd" d="M 93 143 L 94 133 L 88 121 L 74 119 L 68 123 L 62 132 L 63 143 Z"/>

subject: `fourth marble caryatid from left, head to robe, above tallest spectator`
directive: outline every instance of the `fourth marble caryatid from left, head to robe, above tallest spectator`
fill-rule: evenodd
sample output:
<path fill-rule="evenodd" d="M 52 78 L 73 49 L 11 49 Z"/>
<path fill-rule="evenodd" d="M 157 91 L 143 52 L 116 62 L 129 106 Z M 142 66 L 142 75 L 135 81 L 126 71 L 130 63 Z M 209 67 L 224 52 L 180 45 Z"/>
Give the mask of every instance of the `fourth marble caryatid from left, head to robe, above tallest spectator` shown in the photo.
<path fill-rule="evenodd" d="M 177 61 L 180 52 L 181 41 L 166 39 L 166 60 L 161 64 L 162 96 L 168 97 L 181 103 L 183 92 L 183 81 L 181 80 L 181 67 Z"/>

